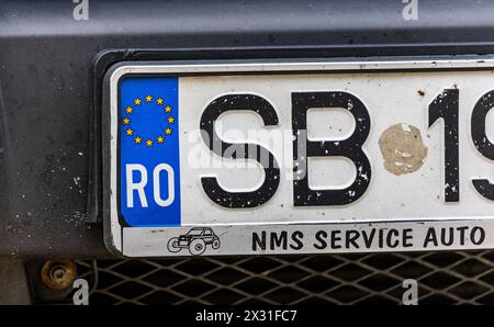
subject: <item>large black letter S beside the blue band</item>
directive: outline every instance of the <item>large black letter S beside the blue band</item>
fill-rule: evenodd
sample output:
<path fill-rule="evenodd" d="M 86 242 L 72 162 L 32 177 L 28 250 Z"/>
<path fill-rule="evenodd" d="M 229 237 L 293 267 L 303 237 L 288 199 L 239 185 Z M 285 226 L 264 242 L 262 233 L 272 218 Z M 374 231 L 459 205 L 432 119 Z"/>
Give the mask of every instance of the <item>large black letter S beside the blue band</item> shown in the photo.
<path fill-rule="evenodd" d="M 263 166 L 265 181 L 256 191 L 228 192 L 223 190 L 215 177 L 201 178 L 202 188 L 207 196 L 224 207 L 255 207 L 267 202 L 280 183 L 280 168 L 274 156 L 255 144 L 229 144 L 216 134 L 214 123 L 227 111 L 248 110 L 261 116 L 265 125 L 277 125 L 278 115 L 266 99 L 255 94 L 231 94 L 213 100 L 201 116 L 201 135 L 207 147 L 216 155 L 232 159 L 255 159 Z"/>

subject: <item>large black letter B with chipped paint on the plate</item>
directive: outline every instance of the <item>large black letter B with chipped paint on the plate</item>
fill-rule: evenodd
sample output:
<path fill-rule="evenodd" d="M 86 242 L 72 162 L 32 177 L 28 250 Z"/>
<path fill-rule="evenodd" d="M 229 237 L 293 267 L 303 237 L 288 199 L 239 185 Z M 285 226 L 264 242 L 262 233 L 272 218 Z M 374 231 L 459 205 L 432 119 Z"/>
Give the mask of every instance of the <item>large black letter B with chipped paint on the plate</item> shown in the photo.
<path fill-rule="evenodd" d="M 348 110 L 355 119 L 355 131 L 350 137 L 341 140 L 299 140 L 307 129 L 307 111 L 312 108 L 341 108 Z M 371 166 L 362 150 L 370 129 L 370 116 L 363 103 L 347 92 L 293 92 L 292 93 L 292 128 L 293 128 L 293 204 L 343 205 L 359 199 L 369 187 Z M 303 154 L 305 153 L 305 156 Z M 346 189 L 311 190 L 308 188 L 307 157 L 343 156 L 357 169 L 355 181 Z"/>

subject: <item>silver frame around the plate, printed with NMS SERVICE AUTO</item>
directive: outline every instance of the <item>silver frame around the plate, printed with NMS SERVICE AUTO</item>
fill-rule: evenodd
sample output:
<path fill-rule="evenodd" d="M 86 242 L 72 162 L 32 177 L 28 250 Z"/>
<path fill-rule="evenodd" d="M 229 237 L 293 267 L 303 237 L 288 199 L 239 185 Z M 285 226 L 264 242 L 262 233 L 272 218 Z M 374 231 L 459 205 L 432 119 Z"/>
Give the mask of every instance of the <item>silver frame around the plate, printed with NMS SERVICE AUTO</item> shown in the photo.
<path fill-rule="evenodd" d="M 407 72 L 407 71 L 481 71 L 494 70 L 494 60 L 491 57 L 463 58 L 411 58 L 411 59 L 393 59 L 377 58 L 367 60 L 222 60 L 222 61 L 161 61 L 161 63 L 121 63 L 111 67 L 103 82 L 103 210 L 104 210 L 104 236 L 106 247 L 115 253 L 126 257 L 167 257 L 167 256 L 197 256 L 197 255 L 265 255 L 265 253 L 319 253 L 319 252 L 374 252 L 374 251 L 411 251 L 411 250 L 458 250 L 458 249 L 485 249 L 494 248 L 494 217 L 454 217 L 414 221 L 386 221 L 374 219 L 369 222 L 322 222 L 322 223 L 269 223 L 269 224 L 194 224 L 172 226 L 154 226 L 154 227 L 130 227 L 122 224 L 119 218 L 117 198 L 119 190 L 115 174 L 116 148 L 119 135 L 117 125 L 114 121 L 114 113 L 120 110 L 116 99 L 119 82 L 123 76 L 232 76 L 232 75 L 294 75 L 294 74 L 367 74 L 367 72 Z M 420 246 L 418 240 L 428 237 L 428 233 L 433 230 L 458 229 L 464 226 L 469 227 L 469 232 L 473 228 L 481 228 L 484 233 L 484 240 L 480 244 L 473 244 L 469 237 L 464 237 L 467 241 L 454 243 L 451 246 L 434 245 L 430 247 Z M 192 240 L 182 240 L 180 249 L 170 250 L 169 243 L 173 238 L 190 234 L 194 228 L 201 230 L 200 237 L 197 239 L 205 239 L 204 234 L 210 230 L 214 237 L 201 241 L 199 250 L 191 250 L 195 245 Z M 343 243 L 348 243 L 348 235 L 352 232 L 360 230 L 370 235 L 377 243 L 366 247 L 359 244 L 359 247 L 348 247 L 345 245 L 333 246 L 334 239 L 346 238 Z M 374 232 L 372 232 L 374 230 Z M 402 238 L 400 246 L 391 247 L 386 245 L 385 238 L 390 235 L 390 230 L 398 230 Z M 479 229 L 476 229 L 479 230 Z M 322 232 L 322 233 L 319 233 Z M 195 232 L 194 232 L 195 233 Z M 318 236 L 329 235 L 325 239 L 326 246 L 317 247 L 313 241 Z M 464 232 L 468 233 L 468 232 Z M 266 234 L 267 239 L 265 246 L 254 247 L 254 235 L 262 237 Z M 300 236 L 303 235 L 303 240 Z M 393 232 L 394 234 L 394 232 Z M 273 236 L 274 235 L 274 236 Z M 343 235 L 343 236 L 341 236 Z M 463 235 L 464 236 L 464 235 Z M 327 237 L 327 236 L 326 236 Z M 418 243 L 412 246 L 404 239 L 414 238 Z M 274 240 L 272 240 L 274 238 Z M 281 238 L 281 240 L 280 240 Z M 319 237 L 321 238 L 321 237 Z M 311 239 L 305 244 L 305 239 Z M 382 243 L 379 239 L 383 239 Z M 215 240 L 217 240 L 215 243 Z M 271 240 L 271 244 L 270 241 Z M 287 240 L 287 241 L 285 241 Z M 274 243 L 274 247 L 272 247 Z M 281 246 L 277 246 L 281 243 Z M 287 244 L 284 246 L 284 243 Z M 300 243 L 302 247 L 299 248 Z M 364 241 L 363 241 L 364 243 Z M 173 241 L 171 241 L 173 245 Z M 322 245 L 323 243 L 319 243 Z M 350 241 L 351 244 L 351 241 Z M 291 246 L 292 245 L 292 246 Z M 173 246 L 172 246 L 173 247 Z"/>

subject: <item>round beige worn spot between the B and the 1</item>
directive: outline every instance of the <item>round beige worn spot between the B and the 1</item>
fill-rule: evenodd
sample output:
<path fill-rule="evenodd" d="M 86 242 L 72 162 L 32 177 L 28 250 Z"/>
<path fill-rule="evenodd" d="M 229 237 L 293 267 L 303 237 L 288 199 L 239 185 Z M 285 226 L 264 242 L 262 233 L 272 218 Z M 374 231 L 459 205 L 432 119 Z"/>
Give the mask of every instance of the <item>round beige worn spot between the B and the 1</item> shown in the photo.
<path fill-rule="evenodd" d="M 427 157 L 420 131 L 409 124 L 395 124 L 384 131 L 379 138 L 379 148 L 384 168 L 396 176 L 418 170 Z"/>

